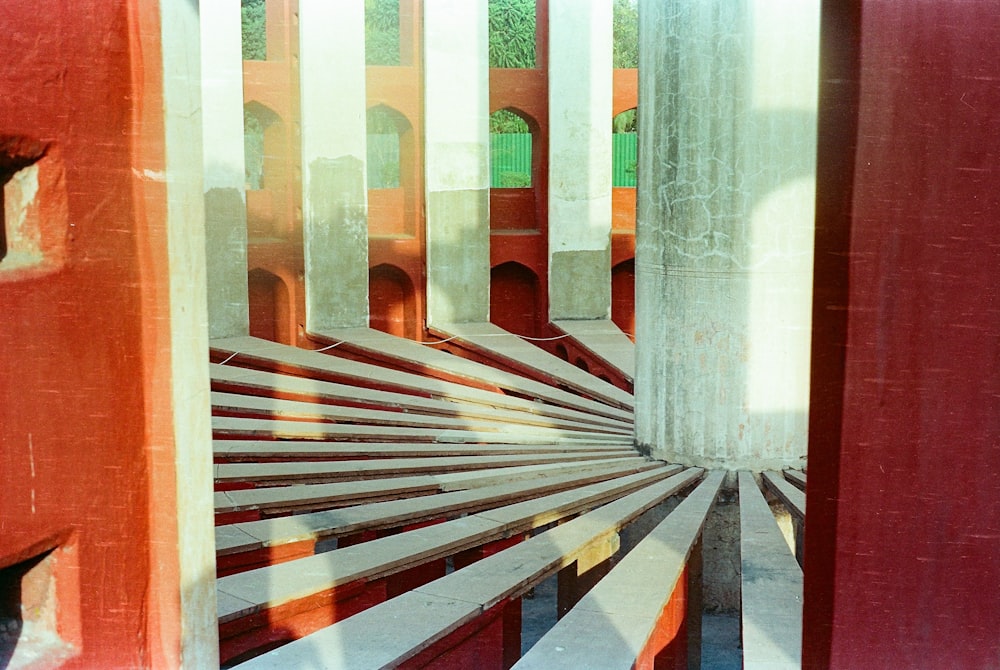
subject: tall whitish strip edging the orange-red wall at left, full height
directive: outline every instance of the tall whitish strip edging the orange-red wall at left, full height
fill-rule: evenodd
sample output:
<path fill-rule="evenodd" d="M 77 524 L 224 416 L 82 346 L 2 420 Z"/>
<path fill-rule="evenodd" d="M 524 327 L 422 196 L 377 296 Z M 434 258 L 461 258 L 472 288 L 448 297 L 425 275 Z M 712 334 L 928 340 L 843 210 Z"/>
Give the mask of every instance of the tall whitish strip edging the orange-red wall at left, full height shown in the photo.
<path fill-rule="evenodd" d="M 169 356 L 177 504 L 176 547 L 180 573 L 180 622 L 161 622 L 181 631 L 181 666 L 218 666 L 215 620 L 215 532 L 212 500 L 212 434 L 208 387 L 208 308 L 205 270 L 205 209 L 202 179 L 200 31 L 197 4 L 161 0 L 163 130 L 166 136 L 167 259 L 169 263 Z M 150 351 L 146 355 L 152 356 Z M 159 419 L 150 419 L 156 422 Z M 164 445 L 150 445 L 160 448 Z M 154 472 L 158 481 L 170 481 Z M 164 520 L 153 519 L 151 523 Z M 173 519 L 170 520 L 173 522 Z M 154 558 L 154 561 L 156 559 Z M 172 561 L 171 561 L 172 562 Z M 151 575 L 151 579 L 157 579 Z"/>

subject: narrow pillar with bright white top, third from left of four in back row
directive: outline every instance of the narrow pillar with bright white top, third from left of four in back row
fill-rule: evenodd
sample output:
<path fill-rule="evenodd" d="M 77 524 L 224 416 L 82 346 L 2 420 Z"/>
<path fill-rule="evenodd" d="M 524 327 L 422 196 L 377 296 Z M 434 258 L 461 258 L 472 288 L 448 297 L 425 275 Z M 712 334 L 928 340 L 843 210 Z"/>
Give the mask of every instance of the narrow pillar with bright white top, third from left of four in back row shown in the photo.
<path fill-rule="evenodd" d="M 427 320 L 489 320 L 486 0 L 424 2 Z"/>

